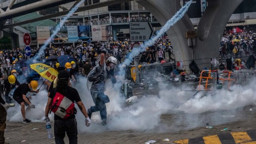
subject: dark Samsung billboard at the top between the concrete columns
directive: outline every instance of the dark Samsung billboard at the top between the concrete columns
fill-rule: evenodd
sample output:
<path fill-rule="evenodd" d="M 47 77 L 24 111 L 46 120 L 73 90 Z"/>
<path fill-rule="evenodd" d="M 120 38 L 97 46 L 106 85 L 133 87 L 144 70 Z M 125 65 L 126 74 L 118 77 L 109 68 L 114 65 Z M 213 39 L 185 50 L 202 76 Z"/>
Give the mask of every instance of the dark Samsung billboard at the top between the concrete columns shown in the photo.
<path fill-rule="evenodd" d="M 183 5 L 188 3 L 190 0 L 183 0 Z M 189 7 L 189 10 L 187 11 L 187 15 L 189 18 L 198 18 L 202 16 L 201 13 L 201 0 L 193 0 L 192 4 Z"/>

